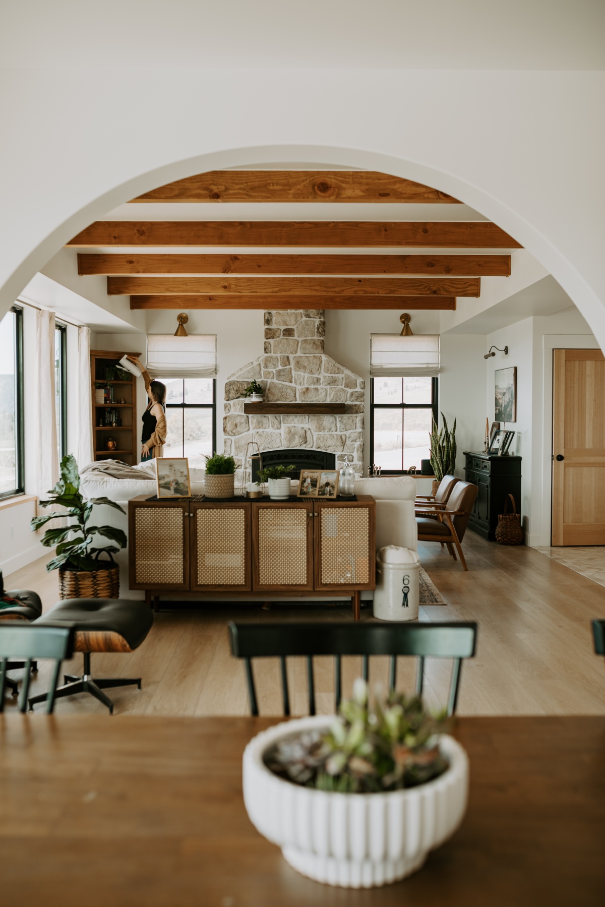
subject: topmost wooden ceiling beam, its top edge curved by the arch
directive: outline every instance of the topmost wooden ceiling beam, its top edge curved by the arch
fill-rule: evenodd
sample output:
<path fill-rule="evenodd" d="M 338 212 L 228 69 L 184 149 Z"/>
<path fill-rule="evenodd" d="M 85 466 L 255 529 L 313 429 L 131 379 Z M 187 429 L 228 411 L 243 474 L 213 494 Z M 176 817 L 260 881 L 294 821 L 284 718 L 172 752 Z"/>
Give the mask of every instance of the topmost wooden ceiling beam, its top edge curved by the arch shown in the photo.
<path fill-rule="evenodd" d="M 210 171 L 169 182 L 132 203 L 148 201 L 339 201 L 459 205 L 451 195 L 370 171 Z"/>

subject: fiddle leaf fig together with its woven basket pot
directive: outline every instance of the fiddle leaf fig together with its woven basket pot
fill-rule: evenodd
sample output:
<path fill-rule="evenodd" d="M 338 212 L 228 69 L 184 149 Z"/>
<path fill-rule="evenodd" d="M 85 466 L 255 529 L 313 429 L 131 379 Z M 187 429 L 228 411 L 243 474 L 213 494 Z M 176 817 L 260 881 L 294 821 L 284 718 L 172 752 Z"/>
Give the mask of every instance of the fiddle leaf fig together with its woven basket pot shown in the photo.
<path fill-rule="evenodd" d="M 46 570 L 59 571 L 59 594 L 62 599 L 117 599 L 120 595 L 120 570 L 112 554 L 126 547 L 126 534 L 113 526 L 89 524 L 93 504 L 107 504 L 124 513 L 120 504 L 109 498 L 84 500 L 80 493 L 78 464 L 71 453 L 61 461 L 61 478 L 54 486 L 48 501 L 41 507 L 60 506 L 64 511 L 36 516 L 30 523 L 32 531 L 40 529 L 50 520 L 67 517 L 68 526 L 47 529 L 42 539 L 47 548 L 54 548 L 55 556 L 46 564 Z M 93 545 L 93 536 L 101 535 L 117 544 Z M 109 554 L 109 561 L 99 561 L 102 552 Z"/>

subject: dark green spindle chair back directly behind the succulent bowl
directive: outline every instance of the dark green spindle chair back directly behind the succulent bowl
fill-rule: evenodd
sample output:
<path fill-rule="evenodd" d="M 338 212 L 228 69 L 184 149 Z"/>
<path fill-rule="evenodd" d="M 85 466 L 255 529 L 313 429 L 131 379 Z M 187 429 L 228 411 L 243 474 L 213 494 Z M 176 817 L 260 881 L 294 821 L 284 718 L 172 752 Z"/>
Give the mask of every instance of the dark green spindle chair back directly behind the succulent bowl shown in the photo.
<path fill-rule="evenodd" d="M 453 658 L 454 668 L 447 701 L 447 714 L 454 715 L 460 687 L 462 659 L 473 658 L 477 625 L 473 621 L 448 623 L 229 623 L 231 652 L 243 658 L 252 715 L 259 714 L 252 658 L 279 658 L 284 715 L 290 714 L 286 658 L 307 658 L 308 713 L 315 715 L 313 658 L 335 656 L 335 707 L 342 693 L 342 657 L 362 656 L 362 677 L 367 680 L 371 655 L 390 656 L 389 690 L 395 689 L 397 656 L 418 658 L 415 693 L 422 696 L 424 658 Z"/>

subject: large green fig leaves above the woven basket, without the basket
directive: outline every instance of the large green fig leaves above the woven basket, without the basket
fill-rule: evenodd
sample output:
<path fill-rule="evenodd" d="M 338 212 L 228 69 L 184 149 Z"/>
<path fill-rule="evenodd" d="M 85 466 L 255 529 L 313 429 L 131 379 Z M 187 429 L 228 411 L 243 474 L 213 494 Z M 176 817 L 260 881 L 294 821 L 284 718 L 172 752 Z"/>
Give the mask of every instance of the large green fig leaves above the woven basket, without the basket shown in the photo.
<path fill-rule="evenodd" d="M 120 504 L 110 501 L 109 498 L 83 498 L 80 492 L 80 473 L 78 464 L 75 462 L 71 453 L 63 457 L 61 461 L 61 478 L 54 486 L 51 495 L 47 501 L 41 501 L 41 507 L 64 507 L 64 511 L 54 511 L 46 513 L 44 516 L 36 516 L 30 522 L 32 532 L 40 529 L 45 523 L 51 520 L 68 518 L 69 525 L 60 526 L 54 529 L 47 529 L 44 532 L 42 543 L 47 548 L 54 548 L 56 545 L 55 556 L 46 564 L 46 570 L 57 570 L 61 567 L 63 570 L 75 571 L 94 571 L 103 567 L 103 562 L 98 561 L 102 551 L 110 555 L 110 564 L 113 563 L 112 554 L 126 547 L 126 533 L 121 529 L 115 529 L 113 526 L 91 526 L 89 520 L 93 512 L 94 504 L 106 504 L 122 513 L 125 511 Z M 110 545 L 93 545 L 93 537 L 100 535 L 105 539 L 115 542 Z M 116 547 L 117 545 L 117 547 Z"/>

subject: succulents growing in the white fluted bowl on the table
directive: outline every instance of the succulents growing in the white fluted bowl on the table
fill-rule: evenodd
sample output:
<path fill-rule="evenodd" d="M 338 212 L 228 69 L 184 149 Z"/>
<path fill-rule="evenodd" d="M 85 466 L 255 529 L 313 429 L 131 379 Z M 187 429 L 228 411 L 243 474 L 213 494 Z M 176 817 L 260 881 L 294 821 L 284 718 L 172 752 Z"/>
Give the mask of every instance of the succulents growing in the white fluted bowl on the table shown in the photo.
<path fill-rule="evenodd" d="M 431 781 L 448 766 L 437 735 L 451 727 L 431 715 L 420 697 L 391 693 L 371 707 L 366 682 L 341 703 L 327 732 L 284 737 L 264 756 L 265 765 L 294 784 L 344 794 L 401 790 Z"/>

